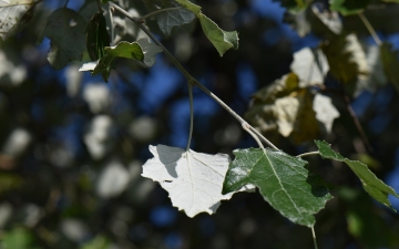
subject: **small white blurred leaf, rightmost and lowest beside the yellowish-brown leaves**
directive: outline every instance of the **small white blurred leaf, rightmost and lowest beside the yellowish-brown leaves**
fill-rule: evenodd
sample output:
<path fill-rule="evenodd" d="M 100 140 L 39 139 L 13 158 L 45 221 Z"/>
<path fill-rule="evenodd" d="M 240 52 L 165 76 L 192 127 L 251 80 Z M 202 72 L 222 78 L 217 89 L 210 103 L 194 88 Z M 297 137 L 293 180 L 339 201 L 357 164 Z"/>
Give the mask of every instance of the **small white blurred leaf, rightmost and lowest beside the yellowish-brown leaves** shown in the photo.
<path fill-rule="evenodd" d="M 339 117 L 339 112 L 332 105 L 331 98 L 317 93 L 313 108 L 316 112 L 316 120 L 325 126 L 327 133 L 331 133 L 334 120 Z"/>

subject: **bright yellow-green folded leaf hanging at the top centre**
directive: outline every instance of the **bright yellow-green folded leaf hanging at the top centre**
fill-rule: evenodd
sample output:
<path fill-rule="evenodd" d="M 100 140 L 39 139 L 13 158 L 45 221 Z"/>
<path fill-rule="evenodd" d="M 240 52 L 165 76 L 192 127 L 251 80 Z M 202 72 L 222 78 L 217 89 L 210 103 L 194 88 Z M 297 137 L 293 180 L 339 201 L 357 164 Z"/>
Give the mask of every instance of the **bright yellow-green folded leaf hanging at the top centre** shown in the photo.
<path fill-rule="evenodd" d="M 192 11 L 201 22 L 201 27 L 216 48 L 221 56 L 229 49 L 238 49 L 237 31 L 224 31 L 214 21 L 201 12 L 201 7 L 190 2 L 188 0 L 176 0 L 184 9 Z"/>

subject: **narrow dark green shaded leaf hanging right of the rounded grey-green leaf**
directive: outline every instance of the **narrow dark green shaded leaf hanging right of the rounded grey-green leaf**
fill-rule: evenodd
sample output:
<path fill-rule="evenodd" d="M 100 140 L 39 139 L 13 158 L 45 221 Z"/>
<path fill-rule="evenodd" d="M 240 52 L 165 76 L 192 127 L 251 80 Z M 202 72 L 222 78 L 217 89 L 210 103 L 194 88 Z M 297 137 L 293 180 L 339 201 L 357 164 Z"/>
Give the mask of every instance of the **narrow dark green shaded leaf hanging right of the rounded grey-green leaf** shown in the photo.
<path fill-rule="evenodd" d="M 86 29 L 86 48 L 90 59 L 96 61 L 103 58 L 105 46 L 110 46 L 105 18 L 102 13 L 95 13 Z"/>

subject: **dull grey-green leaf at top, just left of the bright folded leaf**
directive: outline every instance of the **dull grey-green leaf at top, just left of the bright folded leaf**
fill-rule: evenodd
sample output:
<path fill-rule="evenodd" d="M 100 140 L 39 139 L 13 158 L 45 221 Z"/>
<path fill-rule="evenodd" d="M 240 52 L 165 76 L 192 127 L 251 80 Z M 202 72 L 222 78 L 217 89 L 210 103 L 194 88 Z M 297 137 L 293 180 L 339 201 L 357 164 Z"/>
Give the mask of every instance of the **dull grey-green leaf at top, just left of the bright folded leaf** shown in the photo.
<path fill-rule="evenodd" d="M 172 28 L 192 22 L 195 14 L 186 9 L 170 10 L 156 15 L 160 29 L 164 34 L 170 35 Z"/>

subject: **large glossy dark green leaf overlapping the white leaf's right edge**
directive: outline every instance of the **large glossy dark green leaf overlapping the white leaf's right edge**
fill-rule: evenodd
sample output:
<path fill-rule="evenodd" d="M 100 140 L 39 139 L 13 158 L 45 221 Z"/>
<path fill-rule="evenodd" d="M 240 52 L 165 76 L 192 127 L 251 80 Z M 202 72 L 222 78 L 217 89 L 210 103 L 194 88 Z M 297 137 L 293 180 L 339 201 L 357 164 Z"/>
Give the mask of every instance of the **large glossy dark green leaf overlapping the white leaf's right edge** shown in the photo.
<path fill-rule="evenodd" d="M 253 184 L 267 203 L 295 224 L 313 227 L 314 215 L 331 199 L 327 187 L 309 176 L 307 162 L 270 149 L 248 148 L 233 152 L 223 193 Z"/>

